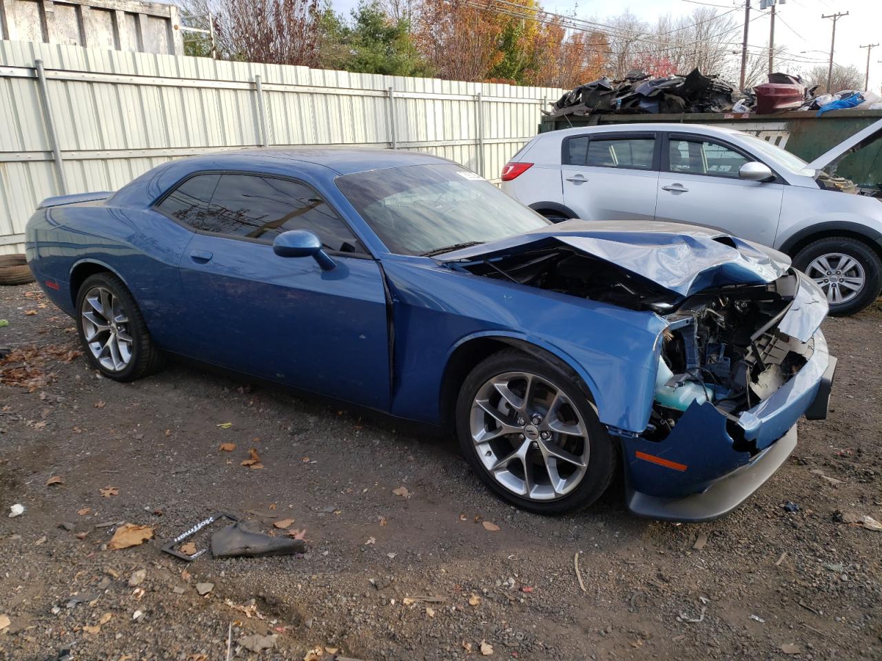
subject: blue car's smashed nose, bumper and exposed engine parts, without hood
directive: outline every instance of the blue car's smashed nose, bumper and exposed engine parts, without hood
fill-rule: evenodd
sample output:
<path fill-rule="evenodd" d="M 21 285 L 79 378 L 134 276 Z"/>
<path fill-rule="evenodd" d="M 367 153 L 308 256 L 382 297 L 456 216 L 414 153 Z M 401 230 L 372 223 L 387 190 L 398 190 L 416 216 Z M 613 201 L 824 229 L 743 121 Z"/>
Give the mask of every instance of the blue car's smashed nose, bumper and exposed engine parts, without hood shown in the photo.
<path fill-rule="evenodd" d="M 825 315 L 823 294 L 791 271 L 666 316 L 649 425 L 622 439 L 634 511 L 722 516 L 771 476 L 796 446 L 796 421 L 826 418 L 836 359 L 818 330 Z"/>

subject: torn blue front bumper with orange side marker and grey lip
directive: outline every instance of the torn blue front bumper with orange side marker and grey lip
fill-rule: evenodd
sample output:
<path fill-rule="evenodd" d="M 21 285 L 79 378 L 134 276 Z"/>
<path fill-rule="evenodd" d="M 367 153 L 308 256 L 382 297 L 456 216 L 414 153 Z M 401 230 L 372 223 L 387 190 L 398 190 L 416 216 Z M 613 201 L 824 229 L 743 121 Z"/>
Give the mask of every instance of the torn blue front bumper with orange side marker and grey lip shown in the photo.
<path fill-rule="evenodd" d="M 811 344 L 803 368 L 736 420 L 693 402 L 662 441 L 623 437 L 628 507 L 656 519 L 706 521 L 753 494 L 796 447 L 796 421 L 826 418 L 836 359 L 821 331 Z"/>

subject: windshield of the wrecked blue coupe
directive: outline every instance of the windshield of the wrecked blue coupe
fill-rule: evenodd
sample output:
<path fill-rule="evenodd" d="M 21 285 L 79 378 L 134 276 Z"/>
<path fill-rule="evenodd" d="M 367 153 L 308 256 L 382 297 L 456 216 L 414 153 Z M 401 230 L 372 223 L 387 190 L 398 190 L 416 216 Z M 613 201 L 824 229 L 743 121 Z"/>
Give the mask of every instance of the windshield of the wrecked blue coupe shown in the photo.
<path fill-rule="evenodd" d="M 426 255 L 549 225 L 486 179 L 457 165 L 346 175 L 337 186 L 393 253 Z"/>

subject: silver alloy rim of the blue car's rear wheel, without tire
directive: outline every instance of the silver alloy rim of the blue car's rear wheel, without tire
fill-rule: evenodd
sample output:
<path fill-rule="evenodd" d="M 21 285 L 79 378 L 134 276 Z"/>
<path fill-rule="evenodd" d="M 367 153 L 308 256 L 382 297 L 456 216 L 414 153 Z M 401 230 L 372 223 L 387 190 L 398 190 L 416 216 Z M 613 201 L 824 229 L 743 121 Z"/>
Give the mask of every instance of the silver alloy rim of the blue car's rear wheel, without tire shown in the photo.
<path fill-rule="evenodd" d="M 83 337 L 95 360 L 111 372 L 121 372 L 131 363 L 129 317 L 119 299 L 108 288 L 96 286 L 86 292 L 80 322 Z"/>

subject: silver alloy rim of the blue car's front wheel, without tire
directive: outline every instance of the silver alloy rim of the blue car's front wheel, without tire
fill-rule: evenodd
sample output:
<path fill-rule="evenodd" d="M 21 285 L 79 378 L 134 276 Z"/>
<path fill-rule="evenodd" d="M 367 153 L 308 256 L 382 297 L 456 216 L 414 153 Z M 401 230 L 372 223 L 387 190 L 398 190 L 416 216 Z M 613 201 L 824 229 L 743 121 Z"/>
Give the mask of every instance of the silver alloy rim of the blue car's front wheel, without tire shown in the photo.
<path fill-rule="evenodd" d="M 585 478 L 588 433 L 569 397 L 527 372 L 506 372 L 481 386 L 469 429 L 484 468 L 512 494 L 554 501 Z"/>

